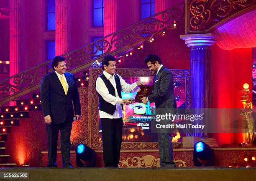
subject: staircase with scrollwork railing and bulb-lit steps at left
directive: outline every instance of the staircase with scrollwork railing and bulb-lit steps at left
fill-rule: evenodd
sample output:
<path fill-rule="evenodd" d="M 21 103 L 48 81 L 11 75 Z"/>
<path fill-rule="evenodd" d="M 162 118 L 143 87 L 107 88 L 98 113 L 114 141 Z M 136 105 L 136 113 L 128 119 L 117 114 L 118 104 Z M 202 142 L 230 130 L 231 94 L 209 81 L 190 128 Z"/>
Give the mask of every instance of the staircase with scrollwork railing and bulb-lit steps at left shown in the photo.
<path fill-rule="evenodd" d="M 174 22 L 183 20 L 184 2 L 63 55 L 67 59 L 67 72 L 84 72 L 96 60 L 101 62 L 106 55 L 123 56 L 141 43 L 151 40 L 153 35 L 175 28 Z M 97 55 L 99 51 L 104 53 Z M 39 93 L 33 94 L 31 99 L 17 99 L 40 88 L 41 78 L 52 72 L 51 62 L 52 60 L 43 62 L 0 81 L 0 167 L 15 166 L 14 163 L 9 163 L 10 155 L 5 151 L 5 141 L 12 131 L 11 128 L 19 126 L 20 119 L 28 119 L 29 111 L 42 110 Z M 77 78 L 78 87 L 87 82 L 85 77 Z M 16 106 L 7 106 L 13 100 Z"/>

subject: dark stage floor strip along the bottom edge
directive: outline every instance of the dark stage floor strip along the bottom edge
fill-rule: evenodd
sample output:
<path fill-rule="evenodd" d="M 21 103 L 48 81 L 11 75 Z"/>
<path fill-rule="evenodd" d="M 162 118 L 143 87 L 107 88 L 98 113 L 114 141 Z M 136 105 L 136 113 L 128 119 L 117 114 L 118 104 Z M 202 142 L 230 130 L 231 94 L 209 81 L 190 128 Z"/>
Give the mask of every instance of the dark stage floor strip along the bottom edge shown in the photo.
<path fill-rule="evenodd" d="M 106 168 L 12 168 L 1 169 L 5 173 L 29 173 L 29 179 L 41 180 L 69 180 L 69 181 L 252 181 L 256 178 L 256 169 L 248 168 L 147 168 L 147 169 L 106 169 Z M 2 174 L 2 173 L 1 173 Z M 12 180 L 12 179 L 6 179 Z M 17 180 L 17 179 L 13 179 Z M 24 179 L 23 179 L 24 180 Z M 26 180 L 26 179 L 25 179 Z"/>

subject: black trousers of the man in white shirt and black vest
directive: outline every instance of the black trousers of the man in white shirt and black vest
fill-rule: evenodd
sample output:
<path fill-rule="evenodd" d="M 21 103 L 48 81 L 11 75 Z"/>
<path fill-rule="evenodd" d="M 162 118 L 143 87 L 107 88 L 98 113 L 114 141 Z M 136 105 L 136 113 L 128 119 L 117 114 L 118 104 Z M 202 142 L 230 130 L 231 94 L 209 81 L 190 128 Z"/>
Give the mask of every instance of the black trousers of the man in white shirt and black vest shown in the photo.
<path fill-rule="evenodd" d="M 101 118 L 105 167 L 118 167 L 122 143 L 123 118 Z"/>

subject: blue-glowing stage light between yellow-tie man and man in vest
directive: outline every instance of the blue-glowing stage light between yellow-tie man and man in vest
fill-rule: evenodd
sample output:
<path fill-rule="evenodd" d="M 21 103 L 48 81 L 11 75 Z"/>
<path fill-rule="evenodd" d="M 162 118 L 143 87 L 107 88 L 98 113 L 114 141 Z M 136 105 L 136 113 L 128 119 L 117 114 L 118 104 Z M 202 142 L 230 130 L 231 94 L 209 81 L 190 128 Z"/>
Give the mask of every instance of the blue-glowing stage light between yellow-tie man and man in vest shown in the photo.
<path fill-rule="evenodd" d="M 75 148 L 76 162 L 78 167 L 94 167 L 95 151 L 89 146 L 78 144 Z"/>

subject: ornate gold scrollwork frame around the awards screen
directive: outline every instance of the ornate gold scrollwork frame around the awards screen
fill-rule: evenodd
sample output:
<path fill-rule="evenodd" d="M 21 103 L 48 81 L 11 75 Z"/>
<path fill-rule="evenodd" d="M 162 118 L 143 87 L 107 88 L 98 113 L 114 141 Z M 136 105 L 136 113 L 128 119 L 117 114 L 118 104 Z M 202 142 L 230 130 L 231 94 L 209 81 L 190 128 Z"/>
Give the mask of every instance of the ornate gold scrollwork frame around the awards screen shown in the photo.
<path fill-rule="evenodd" d="M 102 150 L 102 141 L 99 141 L 99 117 L 98 117 L 98 93 L 96 91 L 96 79 L 102 74 L 102 69 L 91 68 L 89 69 L 89 141 L 90 147 L 95 150 Z M 189 70 L 174 69 L 172 70 L 174 77 L 184 78 L 186 87 L 186 107 L 190 107 L 190 72 Z M 121 77 L 154 77 L 154 73 L 148 69 L 115 69 L 115 73 L 119 74 Z M 173 148 L 181 148 L 181 142 L 172 143 Z M 142 150 L 142 149 L 158 149 L 158 142 L 122 142 L 122 150 Z"/>

